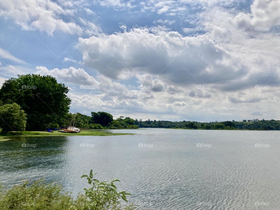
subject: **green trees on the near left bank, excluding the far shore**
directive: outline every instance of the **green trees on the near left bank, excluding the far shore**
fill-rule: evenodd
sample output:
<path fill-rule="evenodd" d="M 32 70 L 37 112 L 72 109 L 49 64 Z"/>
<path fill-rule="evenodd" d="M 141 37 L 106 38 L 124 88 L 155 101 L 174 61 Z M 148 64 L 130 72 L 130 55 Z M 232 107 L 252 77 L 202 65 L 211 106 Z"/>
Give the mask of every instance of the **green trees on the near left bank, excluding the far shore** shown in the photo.
<path fill-rule="evenodd" d="M 0 89 L 0 132 L 43 131 L 70 125 L 69 88 L 52 76 L 17 75 L 6 80 Z M 77 113 L 77 127 L 88 129 L 132 129 L 138 126 L 126 117 L 114 120 L 106 112 Z"/>

